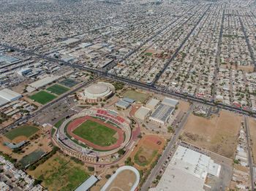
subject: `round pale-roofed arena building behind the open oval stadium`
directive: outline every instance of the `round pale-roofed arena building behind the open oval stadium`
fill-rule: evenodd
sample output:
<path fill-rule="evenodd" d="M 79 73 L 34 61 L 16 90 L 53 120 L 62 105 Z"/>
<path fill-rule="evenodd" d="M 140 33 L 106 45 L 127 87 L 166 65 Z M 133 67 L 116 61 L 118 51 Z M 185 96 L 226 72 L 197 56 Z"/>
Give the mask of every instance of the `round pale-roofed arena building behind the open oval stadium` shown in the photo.
<path fill-rule="evenodd" d="M 78 95 L 78 98 L 82 102 L 97 103 L 110 98 L 114 92 L 115 87 L 110 83 L 97 82 L 94 85 L 86 87 L 86 89 Z"/>

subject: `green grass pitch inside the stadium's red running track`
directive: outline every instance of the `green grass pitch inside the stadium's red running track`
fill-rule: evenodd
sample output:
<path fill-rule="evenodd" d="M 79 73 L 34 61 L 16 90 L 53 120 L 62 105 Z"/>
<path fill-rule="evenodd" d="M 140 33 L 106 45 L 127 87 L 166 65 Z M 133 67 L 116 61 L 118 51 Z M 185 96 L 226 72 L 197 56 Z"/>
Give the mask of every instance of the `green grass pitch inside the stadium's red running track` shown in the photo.
<path fill-rule="evenodd" d="M 117 141 L 117 139 L 113 137 L 116 134 L 116 130 L 91 120 L 83 122 L 73 133 L 102 147 L 110 146 Z"/>

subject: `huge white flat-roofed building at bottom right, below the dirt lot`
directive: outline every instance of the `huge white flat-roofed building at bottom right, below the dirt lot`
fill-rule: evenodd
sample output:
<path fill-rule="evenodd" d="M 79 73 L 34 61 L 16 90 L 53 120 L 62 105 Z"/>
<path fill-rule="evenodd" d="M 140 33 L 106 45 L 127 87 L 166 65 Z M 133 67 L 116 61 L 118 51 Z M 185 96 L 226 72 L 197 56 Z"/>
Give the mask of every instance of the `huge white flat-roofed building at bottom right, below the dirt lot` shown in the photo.
<path fill-rule="evenodd" d="M 210 176 L 219 177 L 221 165 L 214 163 L 211 157 L 203 155 L 186 147 L 178 146 L 170 164 L 167 165 L 157 187 L 150 191 L 203 191 L 206 178 Z"/>

